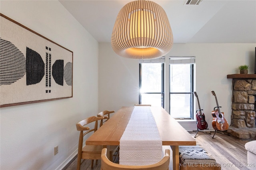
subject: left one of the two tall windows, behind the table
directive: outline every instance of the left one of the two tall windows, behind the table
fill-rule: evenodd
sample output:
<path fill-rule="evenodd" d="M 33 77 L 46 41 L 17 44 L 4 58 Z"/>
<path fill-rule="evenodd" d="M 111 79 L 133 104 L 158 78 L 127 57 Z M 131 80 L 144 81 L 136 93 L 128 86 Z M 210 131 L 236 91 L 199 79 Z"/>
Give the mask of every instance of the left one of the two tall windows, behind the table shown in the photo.
<path fill-rule="evenodd" d="M 152 61 L 139 64 L 139 104 L 164 107 L 164 63 Z"/>

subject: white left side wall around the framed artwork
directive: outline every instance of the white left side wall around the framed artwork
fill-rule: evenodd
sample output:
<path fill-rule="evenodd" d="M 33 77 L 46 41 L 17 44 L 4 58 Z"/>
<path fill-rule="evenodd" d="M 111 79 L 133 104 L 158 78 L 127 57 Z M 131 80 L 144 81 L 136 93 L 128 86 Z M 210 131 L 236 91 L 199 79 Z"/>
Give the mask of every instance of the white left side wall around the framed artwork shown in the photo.
<path fill-rule="evenodd" d="M 0 169 L 61 169 L 77 154 L 76 123 L 98 113 L 98 42 L 58 1 L 1 0 L 0 9 L 73 51 L 73 98 L 0 109 Z"/>

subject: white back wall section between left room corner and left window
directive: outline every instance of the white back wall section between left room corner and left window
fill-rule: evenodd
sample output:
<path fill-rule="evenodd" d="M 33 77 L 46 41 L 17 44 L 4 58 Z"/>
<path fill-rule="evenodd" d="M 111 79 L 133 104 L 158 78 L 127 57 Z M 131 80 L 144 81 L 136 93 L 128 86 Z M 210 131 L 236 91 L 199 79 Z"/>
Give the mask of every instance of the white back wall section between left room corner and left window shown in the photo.
<path fill-rule="evenodd" d="M 99 110 L 138 104 L 138 60 L 120 57 L 110 43 L 99 46 Z"/>

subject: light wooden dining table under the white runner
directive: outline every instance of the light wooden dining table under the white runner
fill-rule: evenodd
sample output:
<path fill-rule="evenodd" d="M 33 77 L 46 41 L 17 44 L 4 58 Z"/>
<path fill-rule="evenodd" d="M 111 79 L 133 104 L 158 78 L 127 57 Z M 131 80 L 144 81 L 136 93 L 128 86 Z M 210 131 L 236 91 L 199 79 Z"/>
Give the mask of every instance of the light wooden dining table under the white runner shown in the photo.
<path fill-rule="evenodd" d="M 173 170 L 179 170 L 179 146 L 196 145 L 196 141 L 162 107 L 151 106 L 150 108 L 162 138 L 162 145 L 170 145 L 172 149 Z M 119 109 L 86 140 L 86 145 L 103 145 L 107 148 L 110 145 L 119 145 L 133 109 L 134 106 Z"/>

